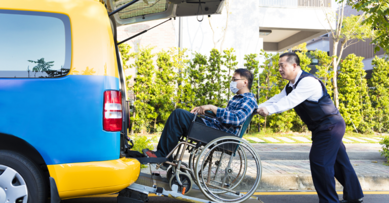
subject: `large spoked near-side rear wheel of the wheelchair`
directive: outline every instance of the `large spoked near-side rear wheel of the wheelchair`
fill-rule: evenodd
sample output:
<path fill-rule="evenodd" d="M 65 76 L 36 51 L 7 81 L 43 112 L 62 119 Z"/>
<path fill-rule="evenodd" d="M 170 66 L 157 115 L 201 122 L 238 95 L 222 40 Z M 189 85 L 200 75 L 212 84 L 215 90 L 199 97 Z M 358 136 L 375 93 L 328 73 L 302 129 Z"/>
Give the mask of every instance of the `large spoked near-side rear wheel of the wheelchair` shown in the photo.
<path fill-rule="evenodd" d="M 234 136 L 220 137 L 208 143 L 195 165 L 200 190 L 217 202 L 247 200 L 257 189 L 261 175 L 261 161 L 255 149 Z"/>

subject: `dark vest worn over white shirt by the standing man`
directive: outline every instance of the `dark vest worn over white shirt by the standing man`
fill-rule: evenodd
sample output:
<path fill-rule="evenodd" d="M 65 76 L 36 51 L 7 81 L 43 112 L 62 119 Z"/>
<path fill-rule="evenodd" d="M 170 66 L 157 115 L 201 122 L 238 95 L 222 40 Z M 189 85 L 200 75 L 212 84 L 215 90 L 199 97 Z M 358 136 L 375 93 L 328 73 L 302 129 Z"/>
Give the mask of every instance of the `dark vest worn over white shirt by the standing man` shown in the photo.
<path fill-rule="evenodd" d="M 332 102 L 330 95 L 327 93 L 326 86 L 319 78 L 310 73 L 302 71 L 301 76 L 298 78 L 295 84 L 295 88 L 304 77 L 313 77 L 319 80 L 323 88 L 323 96 L 319 99 L 318 102 L 305 100 L 294 108 L 297 115 L 307 125 L 308 129 L 312 131 L 313 134 L 315 134 L 317 129 L 322 129 L 327 125 L 339 122 L 343 120 L 343 118 L 340 115 L 339 110 Z M 289 86 L 289 83 L 285 88 L 286 95 L 293 91 L 293 88 Z"/>

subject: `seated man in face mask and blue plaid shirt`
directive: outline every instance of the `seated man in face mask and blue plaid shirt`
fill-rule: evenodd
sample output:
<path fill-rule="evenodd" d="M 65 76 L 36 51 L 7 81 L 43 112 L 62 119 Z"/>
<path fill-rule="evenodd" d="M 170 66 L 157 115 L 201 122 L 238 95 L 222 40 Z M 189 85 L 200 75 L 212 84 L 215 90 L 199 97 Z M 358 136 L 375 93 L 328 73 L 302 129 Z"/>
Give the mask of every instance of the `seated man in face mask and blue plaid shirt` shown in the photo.
<path fill-rule="evenodd" d="M 254 94 L 250 92 L 253 79 L 254 75 L 249 70 L 242 68 L 235 70 L 229 88 L 236 95 L 228 101 L 225 108 L 204 105 L 195 107 L 190 112 L 182 109 L 174 110 L 165 124 L 157 151 L 146 148 L 142 150 L 143 154 L 150 158 L 166 157 L 175 148 L 181 136 L 188 134 L 190 124 L 195 119 L 195 113 L 204 115 L 206 111 L 212 111 L 216 115 L 215 118 L 207 116 L 204 118 L 197 117 L 196 122 L 237 135 L 239 126 L 257 108 Z M 169 161 L 171 162 L 172 160 L 172 156 L 169 157 Z M 167 170 L 168 167 L 169 165 L 167 164 L 160 165 L 160 168 L 163 170 Z"/>

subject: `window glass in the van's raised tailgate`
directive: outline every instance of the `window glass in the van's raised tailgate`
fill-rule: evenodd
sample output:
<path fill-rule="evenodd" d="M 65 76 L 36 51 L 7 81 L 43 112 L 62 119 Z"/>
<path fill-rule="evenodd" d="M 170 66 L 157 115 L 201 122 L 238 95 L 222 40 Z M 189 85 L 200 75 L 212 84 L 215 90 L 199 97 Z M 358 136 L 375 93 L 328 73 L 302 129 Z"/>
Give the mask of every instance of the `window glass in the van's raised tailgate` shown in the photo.
<path fill-rule="evenodd" d="M 115 0 L 115 9 L 132 2 L 132 0 Z M 168 9 L 168 0 L 141 0 L 119 12 L 120 19 L 127 19 L 147 14 L 161 13 Z"/>

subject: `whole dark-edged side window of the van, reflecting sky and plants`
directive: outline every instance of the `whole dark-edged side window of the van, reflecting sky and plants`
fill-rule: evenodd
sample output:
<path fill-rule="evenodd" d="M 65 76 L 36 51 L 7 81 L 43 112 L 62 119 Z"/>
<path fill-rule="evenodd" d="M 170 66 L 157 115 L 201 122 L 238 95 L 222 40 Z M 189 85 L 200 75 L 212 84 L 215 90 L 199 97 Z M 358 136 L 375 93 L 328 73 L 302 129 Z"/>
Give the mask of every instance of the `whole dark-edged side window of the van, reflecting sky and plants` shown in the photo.
<path fill-rule="evenodd" d="M 55 78 L 69 73 L 68 16 L 0 10 L 0 25 L 0 78 Z"/>

